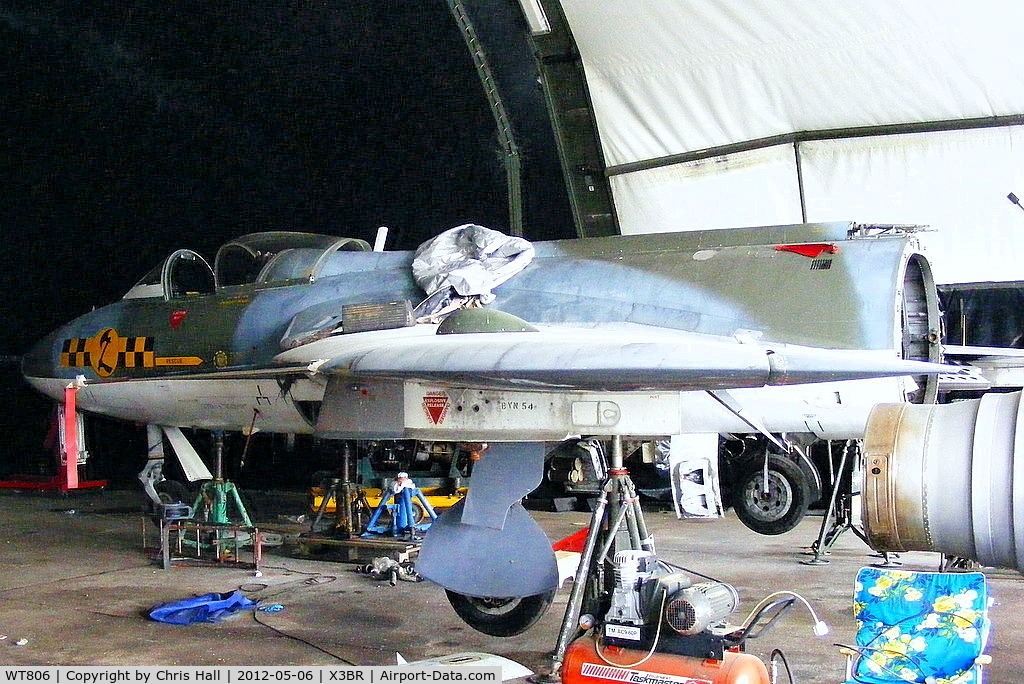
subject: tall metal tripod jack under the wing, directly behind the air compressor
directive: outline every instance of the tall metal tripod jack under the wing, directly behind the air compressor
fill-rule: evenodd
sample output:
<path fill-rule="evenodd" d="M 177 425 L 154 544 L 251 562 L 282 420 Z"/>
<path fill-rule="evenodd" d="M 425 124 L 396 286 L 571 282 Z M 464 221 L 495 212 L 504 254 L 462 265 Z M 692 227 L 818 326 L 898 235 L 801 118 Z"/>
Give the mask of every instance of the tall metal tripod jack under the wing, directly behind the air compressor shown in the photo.
<path fill-rule="evenodd" d="M 558 641 L 552 657 L 551 674 L 538 680 L 560 681 L 562 660 L 565 651 L 579 631 L 580 611 L 583 607 L 584 594 L 591 590 L 598 595 L 604 588 L 604 562 L 609 554 L 625 549 L 637 549 L 654 553 L 654 540 L 647 531 L 640 498 L 624 465 L 623 439 L 615 436 L 612 441 L 611 464 L 607 469 L 608 476 L 601 487 L 594 514 L 590 520 L 590 531 L 580 556 L 580 565 Z M 625 523 L 625 529 L 623 528 Z M 600 544 L 600 550 L 595 549 Z M 616 548 L 616 545 L 618 548 Z"/>

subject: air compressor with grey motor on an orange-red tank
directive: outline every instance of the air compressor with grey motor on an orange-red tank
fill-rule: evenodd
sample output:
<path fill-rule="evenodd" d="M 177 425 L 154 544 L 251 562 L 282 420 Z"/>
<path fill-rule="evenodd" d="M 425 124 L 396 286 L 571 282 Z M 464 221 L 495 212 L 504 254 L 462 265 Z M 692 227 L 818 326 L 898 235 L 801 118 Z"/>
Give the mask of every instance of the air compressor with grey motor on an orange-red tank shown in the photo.
<path fill-rule="evenodd" d="M 764 662 L 741 652 L 742 630 L 725 622 L 739 603 L 733 587 L 693 584 L 649 551 L 613 562 L 610 604 L 603 621 L 581 617 L 587 634 L 565 651 L 564 684 L 771 684 Z"/>

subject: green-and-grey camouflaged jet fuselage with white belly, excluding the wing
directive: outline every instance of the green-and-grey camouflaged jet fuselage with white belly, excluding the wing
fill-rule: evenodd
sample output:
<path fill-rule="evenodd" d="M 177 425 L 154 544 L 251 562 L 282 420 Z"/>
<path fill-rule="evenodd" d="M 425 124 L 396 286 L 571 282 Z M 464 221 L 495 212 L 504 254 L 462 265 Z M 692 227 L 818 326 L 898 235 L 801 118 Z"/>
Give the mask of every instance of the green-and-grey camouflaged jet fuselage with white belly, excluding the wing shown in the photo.
<path fill-rule="evenodd" d="M 840 349 L 898 349 L 901 274 L 915 258 L 912 248 L 905 238 L 847 240 L 848 228 L 781 226 L 537 243 L 532 263 L 498 287 L 489 306 L 537 325 L 669 329 Z M 836 249 L 821 257 L 778 249 L 798 240 L 829 241 Z M 291 251 L 298 256 L 287 268 L 281 259 L 267 261 L 259 275 L 231 285 L 222 285 L 231 280 L 226 271 L 216 280 L 211 272 L 199 291 L 175 282 L 176 253 L 159 281 L 136 286 L 126 298 L 76 318 L 40 342 L 26 356 L 24 373 L 54 398 L 70 382 L 84 379 L 80 407 L 125 420 L 244 430 L 255 416 L 258 429 L 313 432 L 328 382 L 315 373 L 282 374 L 280 355 L 326 335 L 353 340 L 380 336 L 378 330 L 339 333 L 331 322 L 340 319 L 348 305 L 415 305 L 425 293 L 411 273 L 412 252 Z M 202 261 L 190 254 L 178 261 L 185 258 Z M 218 268 L 224 268 L 220 257 Z M 425 326 L 420 332 L 432 334 L 433 329 Z M 809 392 L 736 391 L 748 392 L 744 401 L 758 404 L 771 418 L 773 430 L 846 435 L 862 429 L 870 404 L 902 399 L 901 381 L 857 382 L 816 386 Z M 621 416 L 616 425 L 566 423 L 563 417 L 573 415 L 571 407 L 544 413 L 550 403 L 523 394 L 543 390 L 528 388 L 507 400 L 492 392 L 494 401 L 486 405 L 515 407 L 504 414 L 456 414 L 461 404 L 453 393 L 452 420 L 442 425 L 431 419 L 427 397 L 450 386 L 391 385 L 389 391 L 401 397 L 387 408 L 392 425 L 383 430 L 386 436 L 468 438 L 476 432 L 515 438 L 518 431 L 544 439 L 588 428 L 595 434 L 633 429 L 628 416 Z M 368 383 L 364 389 L 369 390 L 355 394 L 356 402 L 373 398 L 374 387 Z M 634 427 L 648 434 L 655 428 L 687 431 L 695 424 L 703 431 L 744 431 L 702 392 L 670 394 L 639 393 L 647 398 L 638 405 L 668 405 L 670 418 Z M 586 398 L 591 399 L 599 397 Z M 851 418 L 849 411 L 858 402 L 863 415 Z M 622 412 L 622 407 L 609 411 Z M 647 412 L 649 408 L 634 413 L 643 417 Z M 510 422 L 510 414 L 522 420 Z M 829 415 L 834 418 L 822 423 Z M 462 419 L 458 426 L 456 417 Z M 836 427 L 825 424 L 829 420 Z M 530 426 L 540 427 L 525 429 Z"/>

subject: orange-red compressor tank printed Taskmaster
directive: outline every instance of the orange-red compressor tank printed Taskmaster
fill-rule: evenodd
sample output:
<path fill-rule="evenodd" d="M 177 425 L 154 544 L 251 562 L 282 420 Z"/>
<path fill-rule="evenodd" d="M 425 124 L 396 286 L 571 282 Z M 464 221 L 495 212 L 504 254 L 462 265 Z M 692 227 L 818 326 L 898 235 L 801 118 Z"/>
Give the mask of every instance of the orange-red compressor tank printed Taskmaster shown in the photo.
<path fill-rule="evenodd" d="M 706 660 L 688 655 L 654 653 L 613 646 L 601 647 L 594 637 L 581 637 L 565 651 L 561 679 L 564 684 L 608 684 L 642 680 L 634 673 L 672 677 L 676 684 L 769 684 L 764 662 L 750 653 L 726 651 L 722 660 Z M 603 658 L 601 656 L 604 656 Z M 640 662 L 643 660 L 643 662 Z M 639 662 L 640 665 L 634 665 Z"/>

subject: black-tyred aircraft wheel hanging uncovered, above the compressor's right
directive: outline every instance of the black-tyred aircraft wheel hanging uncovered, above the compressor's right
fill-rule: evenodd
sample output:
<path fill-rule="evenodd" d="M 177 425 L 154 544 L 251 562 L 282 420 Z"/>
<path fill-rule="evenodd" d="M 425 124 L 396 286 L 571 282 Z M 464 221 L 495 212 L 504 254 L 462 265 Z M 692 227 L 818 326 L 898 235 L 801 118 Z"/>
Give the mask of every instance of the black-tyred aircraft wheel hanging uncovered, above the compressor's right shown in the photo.
<path fill-rule="evenodd" d="M 781 535 L 797 526 L 810 505 L 810 484 L 800 466 L 776 454 L 768 455 L 768 487 L 764 463 L 751 465 L 736 481 L 733 508 L 740 522 L 759 535 Z"/>

